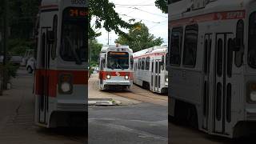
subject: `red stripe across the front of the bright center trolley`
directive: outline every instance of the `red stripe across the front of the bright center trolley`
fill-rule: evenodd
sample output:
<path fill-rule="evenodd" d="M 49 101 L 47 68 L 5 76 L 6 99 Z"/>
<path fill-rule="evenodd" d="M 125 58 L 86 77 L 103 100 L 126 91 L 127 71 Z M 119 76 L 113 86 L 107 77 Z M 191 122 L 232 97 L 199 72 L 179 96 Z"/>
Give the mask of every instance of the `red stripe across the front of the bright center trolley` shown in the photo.
<path fill-rule="evenodd" d="M 134 79 L 134 73 L 132 73 L 132 72 L 100 71 L 98 76 L 100 79 L 102 78 L 102 79 L 106 80 L 107 74 L 110 74 L 111 77 L 116 77 L 116 76 L 124 77 L 124 76 L 128 75 L 130 79 Z"/>

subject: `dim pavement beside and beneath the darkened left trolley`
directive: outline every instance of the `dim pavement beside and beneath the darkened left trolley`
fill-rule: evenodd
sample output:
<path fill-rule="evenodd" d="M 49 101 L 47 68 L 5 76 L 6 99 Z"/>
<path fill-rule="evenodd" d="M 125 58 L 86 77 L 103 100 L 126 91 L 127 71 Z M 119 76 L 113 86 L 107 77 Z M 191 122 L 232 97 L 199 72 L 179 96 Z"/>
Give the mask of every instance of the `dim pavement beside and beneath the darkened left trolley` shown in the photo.
<path fill-rule="evenodd" d="M 35 126 L 33 83 L 33 74 L 21 68 L 0 96 L 0 144 L 84 144 L 82 132 Z"/>

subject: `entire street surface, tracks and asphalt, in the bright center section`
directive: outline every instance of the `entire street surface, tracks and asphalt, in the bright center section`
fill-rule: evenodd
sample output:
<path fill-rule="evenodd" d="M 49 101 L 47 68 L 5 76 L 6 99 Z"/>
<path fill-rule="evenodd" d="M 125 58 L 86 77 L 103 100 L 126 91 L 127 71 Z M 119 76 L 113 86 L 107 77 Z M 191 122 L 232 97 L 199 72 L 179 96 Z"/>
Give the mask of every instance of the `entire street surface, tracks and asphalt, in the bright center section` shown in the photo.
<path fill-rule="evenodd" d="M 167 96 L 138 86 L 99 90 L 98 75 L 89 80 L 89 98 L 112 98 L 119 106 L 89 106 L 90 144 L 167 144 Z"/>

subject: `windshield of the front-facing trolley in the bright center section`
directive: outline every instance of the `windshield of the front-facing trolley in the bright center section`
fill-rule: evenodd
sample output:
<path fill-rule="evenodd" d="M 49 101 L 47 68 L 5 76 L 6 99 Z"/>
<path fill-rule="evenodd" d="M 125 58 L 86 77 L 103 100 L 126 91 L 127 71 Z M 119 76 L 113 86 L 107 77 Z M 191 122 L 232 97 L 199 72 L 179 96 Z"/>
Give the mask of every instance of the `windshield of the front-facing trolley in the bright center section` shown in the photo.
<path fill-rule="evenodd" d="M 107 64 L 109 69 L 129 69 L 129 54 L 127 52 L 108 52 Z"/>

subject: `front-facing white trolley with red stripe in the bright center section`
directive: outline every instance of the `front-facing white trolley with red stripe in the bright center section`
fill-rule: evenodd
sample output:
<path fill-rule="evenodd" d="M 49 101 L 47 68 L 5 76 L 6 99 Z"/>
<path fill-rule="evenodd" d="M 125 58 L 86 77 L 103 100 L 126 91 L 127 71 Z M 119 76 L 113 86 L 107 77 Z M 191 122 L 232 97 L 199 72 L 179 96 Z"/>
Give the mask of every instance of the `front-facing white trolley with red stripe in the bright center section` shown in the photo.
<path fill-rule="evenodd" d="M 103 46 L 99 58 L 100 90 L 132 86 L 133 50 L 129 46 Z"/>

